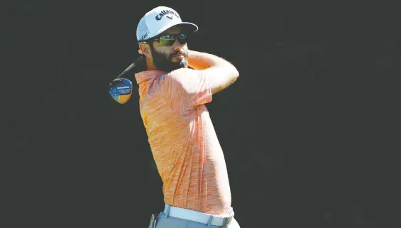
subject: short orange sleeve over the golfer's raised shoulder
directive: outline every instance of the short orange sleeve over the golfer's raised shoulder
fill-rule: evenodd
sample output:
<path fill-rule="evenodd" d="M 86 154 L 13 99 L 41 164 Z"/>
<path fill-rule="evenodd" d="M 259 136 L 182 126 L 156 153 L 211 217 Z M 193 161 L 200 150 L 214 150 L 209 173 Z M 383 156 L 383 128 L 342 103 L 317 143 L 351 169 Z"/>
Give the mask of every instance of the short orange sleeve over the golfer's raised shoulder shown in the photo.
<path fill-rule="evenodd" d="M 163 78 L 164 95 L 180 112 L 212 102 L 209 79 L 199 70 L 180 69 Z"/>

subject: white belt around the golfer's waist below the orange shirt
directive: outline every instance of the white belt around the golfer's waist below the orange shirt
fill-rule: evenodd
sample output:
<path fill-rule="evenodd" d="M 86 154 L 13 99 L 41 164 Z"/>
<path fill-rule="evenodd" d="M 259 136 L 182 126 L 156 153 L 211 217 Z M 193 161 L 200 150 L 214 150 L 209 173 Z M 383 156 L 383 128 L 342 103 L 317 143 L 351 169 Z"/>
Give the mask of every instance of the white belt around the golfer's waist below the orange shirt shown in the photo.
<path fill-rule="evenodd" d="M 209 224 L 209 219 L 212 219 L 212 222 L 210 224 L 216 227 L 223 227 L 223 226 L 225 227 L 226 224 L 231 222 L 232 217 L 234 217 L 234 212 L 232 210 L 229 217 L 221 217 L 218 215 L 209 215 L 203 212 L 188 210 L 185 208 L 173 207 L 167 204 L 165 205 L 164 213 L 167 216 L 175 217 L 177 219 L 185 219 L 188 221 L 199 222 L 202 224 Z"/>

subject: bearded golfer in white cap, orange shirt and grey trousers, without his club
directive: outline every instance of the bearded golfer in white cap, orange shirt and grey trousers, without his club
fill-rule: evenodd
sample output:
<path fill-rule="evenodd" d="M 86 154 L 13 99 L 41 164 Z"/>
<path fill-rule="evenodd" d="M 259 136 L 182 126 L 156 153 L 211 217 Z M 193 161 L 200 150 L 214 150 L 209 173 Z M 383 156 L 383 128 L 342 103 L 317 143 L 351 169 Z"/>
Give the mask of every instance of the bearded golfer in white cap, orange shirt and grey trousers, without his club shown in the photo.
<path fill-rule="evenodd" d="M 238 79 L 228 61 L 188 48 L 198 27 L 174 9 L 159 6 L 138 23 L 136 73 L 143 124 L 158 173 L 165 209 L 150 227 L 239 227 L 231 207 L 224 153 L 205 104 Z"/>

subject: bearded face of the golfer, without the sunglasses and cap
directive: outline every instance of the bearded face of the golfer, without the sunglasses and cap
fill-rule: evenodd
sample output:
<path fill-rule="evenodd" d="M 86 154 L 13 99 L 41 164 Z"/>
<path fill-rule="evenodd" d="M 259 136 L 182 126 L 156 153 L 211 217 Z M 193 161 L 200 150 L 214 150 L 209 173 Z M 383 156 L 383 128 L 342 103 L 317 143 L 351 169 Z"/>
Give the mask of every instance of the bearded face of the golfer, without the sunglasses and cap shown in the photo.
<path fill-rule="evenodd" d="M 172 27 L 161 33 L 159 36 L 166 34 L 177 35 L 182 33 L 181 28 Z M 171 46 L 161 46 L 158 42 L 150 44 L 152 50 L 153 65 L 165 72 L 188 67 L 188 47 L 187 43 L 181 44 L 177 38 Z"/>

